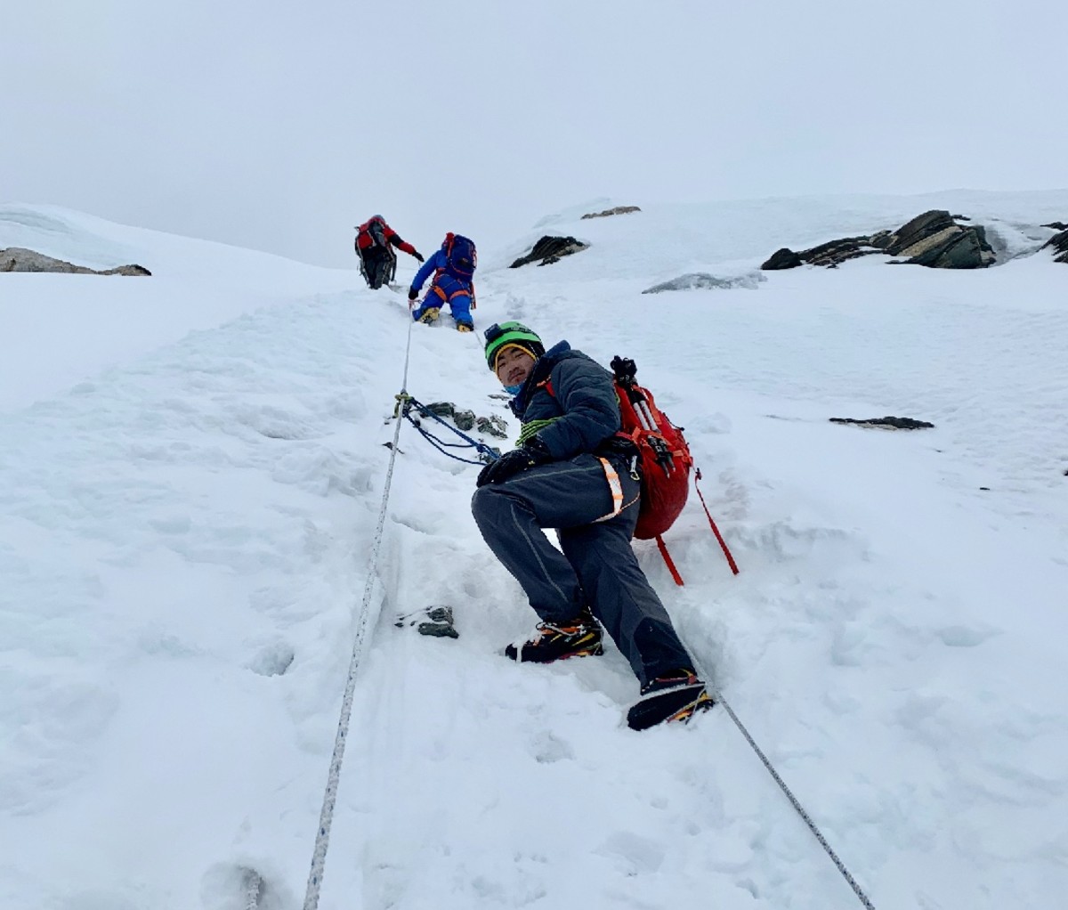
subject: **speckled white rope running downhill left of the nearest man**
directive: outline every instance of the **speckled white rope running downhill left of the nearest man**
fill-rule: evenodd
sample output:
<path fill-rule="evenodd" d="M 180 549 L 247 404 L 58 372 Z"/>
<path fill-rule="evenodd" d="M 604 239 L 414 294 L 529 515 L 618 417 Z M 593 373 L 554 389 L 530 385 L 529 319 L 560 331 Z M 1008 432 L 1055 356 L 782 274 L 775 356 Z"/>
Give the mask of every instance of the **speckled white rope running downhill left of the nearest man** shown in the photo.
<path fill-rule="evenodd" d="M 411 327 L 408 321 L 408 342 L 404 356 L 404 381 L 398 406 L 403 406 L 403 396 L 408 394 L 408 361 L 411 355 Z M 352 640 L 352 657 L 348 664 L 348 678 L 345 680 L 345 694 L 341 702 L 341 718 L 337 720 L 337 735 L 334 737 L 334 751 L 330 758 L 330 771 L 327 774 L 327 789 L 323 795 L 323 810 L 319 812 L 319 828 L 315 834 L 315 849 L 312 852 L 312 868 L 308 874 L 308 890 L 304 893 L 303 910 L 316 910 L 319 904 L 319 889 L 323 885 L 323 869 L 327 861 L 327 848 L 330 844 L 330 826 L 333 823 L 334 804 L 337 801 L 337 784 L 341 780 L 341 765 L 345 757 L 345 737 L 348 736 L 348 722 L 352 715 L 352 696 L 356 691 L 356 673 L 363 656 L 364 639 L 371 626 L 368 622 L 371 596 L 375 590 L 378 577 L 378 549 L 382 543 L 382 529 L 386 527 L 386 506 L 390 499 L 390 484 L 393 481 L 393 465 L 397 456 L 397 439 L 400 436 L 400 420 L 397 414 L 396 426 L 393 429 L 393 444 L 390 446 L 390 464 L 386 470 L 386 486 L 382 489 L 382 504 L 378 509 L 378 524 L 375 528 L 375 538 L 371 546 L 371 560 L 367 565 L 367 581 L 363 589 L 363 602 L 356 622 L 356 636 Z"/>

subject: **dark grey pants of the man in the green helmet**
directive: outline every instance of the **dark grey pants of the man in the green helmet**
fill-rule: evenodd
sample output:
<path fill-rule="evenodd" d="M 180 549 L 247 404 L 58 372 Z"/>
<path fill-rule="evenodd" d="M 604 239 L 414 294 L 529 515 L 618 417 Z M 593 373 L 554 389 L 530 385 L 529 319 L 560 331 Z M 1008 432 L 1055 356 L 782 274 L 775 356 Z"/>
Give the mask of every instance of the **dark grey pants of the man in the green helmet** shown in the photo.
<path fill-rule="evenodd" d="M 612 493 L 594 455 L 553 461 L 480 487 L 471 512 L 538 616 L 563 623 L 588 605 L 644 686 L 672 670 L 692 668 L 693 661 L 630 547 L 639 482 L 622 459 L 611 460 L 623 501 L 631 504 L 608 521 L 596 521 L 612 511 Z M 557 529 L 563 554 L 541 528 Z"/>

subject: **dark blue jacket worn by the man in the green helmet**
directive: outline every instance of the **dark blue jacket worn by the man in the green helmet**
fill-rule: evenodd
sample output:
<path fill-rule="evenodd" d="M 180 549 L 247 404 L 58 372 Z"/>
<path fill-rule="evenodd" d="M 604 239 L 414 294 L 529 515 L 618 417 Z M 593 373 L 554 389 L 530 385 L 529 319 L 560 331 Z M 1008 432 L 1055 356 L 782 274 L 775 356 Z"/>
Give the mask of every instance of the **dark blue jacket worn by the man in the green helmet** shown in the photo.
<path fill-rule="evenodd" d="M 552 394 L 543 385 L 548 379 Z M 612 374 L 565 341 L 547 350 L 512 401 L 524 424 L 551 421 L 537 430 L 555 459 L 596 452 L 621 427 Z"/>

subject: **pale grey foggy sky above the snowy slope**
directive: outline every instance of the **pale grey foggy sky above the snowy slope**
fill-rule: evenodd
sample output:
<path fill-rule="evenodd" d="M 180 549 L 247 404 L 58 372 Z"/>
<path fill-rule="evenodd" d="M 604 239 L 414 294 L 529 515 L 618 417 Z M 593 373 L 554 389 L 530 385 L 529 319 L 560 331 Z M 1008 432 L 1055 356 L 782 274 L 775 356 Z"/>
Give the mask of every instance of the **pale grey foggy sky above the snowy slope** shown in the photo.
<path fill-rule="evenodd" d="M 376 211 L 426 252 L 596 197 L 1068 185 L 1063 0 L 4 6 L 0 202 L 320 265 Z"/>

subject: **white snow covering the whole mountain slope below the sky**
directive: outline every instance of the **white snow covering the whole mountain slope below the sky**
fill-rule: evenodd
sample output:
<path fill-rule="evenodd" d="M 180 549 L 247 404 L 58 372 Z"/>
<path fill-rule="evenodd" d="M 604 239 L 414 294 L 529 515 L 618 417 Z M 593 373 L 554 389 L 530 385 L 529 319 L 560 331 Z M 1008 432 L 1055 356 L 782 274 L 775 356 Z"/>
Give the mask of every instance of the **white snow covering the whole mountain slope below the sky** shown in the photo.
<path fill-rule="evenodd" d="M 666 535 L 686 586 L 640 561 L 876 907 L 1062 906 L 1068 267 L 1028 253 L 1068 191 L 579 220 L 606 202 L 632 200 L 476 238 L 478 328 L 630 356 L 686 427 L 741 572 L 696 497 Z M 931 207 L 1006 264 L 641 294 Z M 505 267 L 543 233 L 591 247 Z M 300 907 L 364 621 L 320 907 L 860 906 L 722 706 L 635 734 L 614 648 L 500 656 L 535 617 L 477 468 L 407 424 L 361 616 L 409 338 L 412 395 L 517 429 L 480 334 L 409 335 L 355 268 L 47 206 L 0 206 L 6 246 L 153 277 L 0 274 L 0 907 Z M 936 428 L 828 420 L 885 414 Z M 458 640 L 393 626 L 435 603 Z"/>

